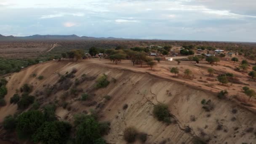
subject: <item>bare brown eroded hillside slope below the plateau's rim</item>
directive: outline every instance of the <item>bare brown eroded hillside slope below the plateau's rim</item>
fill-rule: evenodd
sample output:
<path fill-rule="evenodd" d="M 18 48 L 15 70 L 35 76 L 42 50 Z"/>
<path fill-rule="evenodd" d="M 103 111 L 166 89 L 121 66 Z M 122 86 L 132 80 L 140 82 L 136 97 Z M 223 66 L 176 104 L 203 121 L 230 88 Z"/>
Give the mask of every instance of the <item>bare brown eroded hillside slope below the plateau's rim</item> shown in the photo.
<path fill-rule="evenodd" d="M 72 86 L 75 79 L 85 79 L 77 84 L 77 93 L 63 99 L 63 93 L 69 90 L 54 90 L 47 94 L 48 88 L 59 85 L 58 80 L 66 72 L 77 69 L 75 77 L 70 78 Z M 43 80 L 37 77 L 43 75 Z M 106 88 L 94 87 L 97 77 L 106 74 L 109 85 Z M 7 115 L 17 112 L 17 104 L 10 104 L 10 98 L 25 83 L 33 85 L 32 95 L 43 107 L 48 103 L 56 103 L 56 115 L 60 120 L 73 121 L 73 115 L 80 112 L 99 111 L 100 121 L 111 123 L 109 134 L 104 136 L 110 144 L 125 144 L 123 131 L 128 126 L 134 126 L 139 131 L 148 134 L 148 144 L 190 144 L 200 138 L 210 144 L 241 144 L 256 143 L 255 114 L 238 106 L 228 99 L 218 99 L 215 93 L 195 89 L 191 86 L 177 83 L 149 73 L 107 67 L 93 61 L 50 61 L 33 65 L 14 73 L 8 80 L 8 94 L 5 96 L 7 105 L 0 108 L 0 121 Z M 70 86 L 70 87 L 72 87 Z M 58 87 L 58 86 L 57 86 Z M 80 101 L 82 93 L 93 96 L 90 101 Z M 110 96 L 109 100 L 106 96 Z M 211 107 L 206 110 L 201 104 L 210 100 Z M 62 104 L 67 102 L 66 109 Z M 166 125 L 157 121 L 152 111 L 154 105 L 164 103 L 173 115 L 173 123 Z M 126 109 L 123 106 L 127 104 Z M 209 104 L 210 105 L 210 104 Z M 208 112 L 207 112 L 208 111 Z M 189 129 L 189 130 L 188 130 Z M 3 133 L 3 132 L 2 132 Z M 137 141 L 139 143 L 139 141 Z"/>

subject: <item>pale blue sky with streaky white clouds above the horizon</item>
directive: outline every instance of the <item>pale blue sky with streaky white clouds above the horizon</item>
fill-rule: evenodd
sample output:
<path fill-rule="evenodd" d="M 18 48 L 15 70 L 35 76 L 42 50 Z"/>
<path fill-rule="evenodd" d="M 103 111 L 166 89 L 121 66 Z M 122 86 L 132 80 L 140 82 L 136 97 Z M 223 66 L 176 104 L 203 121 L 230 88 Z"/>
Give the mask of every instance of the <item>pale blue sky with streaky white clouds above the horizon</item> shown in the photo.
<path fill-rule="evenodd" d="M 0 34 L 256 42 L 256 0 L 0 0 Z"/>

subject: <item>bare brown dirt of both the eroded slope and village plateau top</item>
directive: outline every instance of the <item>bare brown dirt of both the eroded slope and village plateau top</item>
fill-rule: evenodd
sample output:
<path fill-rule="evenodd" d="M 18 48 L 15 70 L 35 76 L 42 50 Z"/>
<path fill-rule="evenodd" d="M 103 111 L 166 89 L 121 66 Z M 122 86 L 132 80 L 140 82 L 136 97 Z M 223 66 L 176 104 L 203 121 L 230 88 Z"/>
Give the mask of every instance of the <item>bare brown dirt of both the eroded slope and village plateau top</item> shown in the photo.
<path fill-rule="evenodd" d="M 242 59 L 242 58 L 241 58 Z M 10 98 L 25 83 L 33 85 L 33 95 L 38 91 L 44 91 L 45 85 L 53 85 L 59 80 L 59 74 L 64 75 L 71 72 L 73 68 L 78 71 L 75 78 L 86 74 L 91 79 L 81 83 L 78 87 L 83 92 L 92 94 L 96 106 L 88 107 L 86 101 L 77 101 L 78 96 L 69 96 L 65 101 L 69 103 L 70 110 L 57 108 L 56 115 L 61 120 L 72 122 L 75 113 L 89 112 L 90 109 L 100 110 L 100 120 L 110 121 L 111 130 L 105 136 L 107 142 L 111 144 L 125 144 L 123 131 L 128 126 L 136 127 L 140 132 L 148 134 L 148 144 L 185 144 L 192 143 L 198 136 L 203 140 L 208 140 L 210 144 L 241 144 L 243 142 L 256 143 L 256 116 L 254 113 L 255 100 L 248 101 L 248 97 L 241 92 L 244 85 L 228 84 L 219 85 L 218 81 L 208 81 L 207 68 L 213 67 L 216 73 L 232 72 L 240 81 L 247 83 L 250 88 L 256 90 L 256 82 L 247 81 L 247 73 L 235 72 L 232 68 L 238 64 L 230 61 L 221 61 L 218 65 L 209 65 L 202 61 L 200 64 L 190 64 L 189 61 L 161 61 L 150 70 L 144 65 L 132 66 L 131 61 L 125 60 L 120 64 L 112 64 L 108 59 L 90 59 L 77 62 L 70 61 L 49 61 L 36 64 L 21 72 L 13 73 L 7 77 L 8 94 L 5 96 L 7 105 L 0 108 L 0 121 L 7 115 L 17 111 L 16 104 L 10 104 Z M 193 79 L 173 77 L 171 67 L 179 67 L 180 74 L 185 69 L 192 70 Z M 32 77 L 32 74 L 43 75 L 43 80 Z M 59 74 L 58 74 L 59 73 Z M 93 90 L 96 77 L 108 75 L 110 84 L 107 88 Z M 216 79 L 217 74 L 212 76 Z M 201 78 L 200 78 L 201 77 Z M 73 78 L 72 80 L 75 80 Z M 201 82 L 204 81 L 204 82 Z M 228 99 L 218 99 L 216 93 L 221 90 L 229 92 Z M 61 94 L 58 91 L 49 97 L 38 95 L 36 98 L 43 105 L 49 102 L 58 101 L 61 103 Z M 109 95 L 111 99 L 107 101 L 104 96 Z M 211 100 L 214 109 L 205 112 L 202 109 L 202 99 Z M 152 115 L 155 104 L 167 104 L 171 114 L 174 115 L 176 122 L 171 125 L 159 122 Z M 245 106 L 251 104 L 252 107 Z M 128 104 L 127 109 L 123 105 Z M 97 107 L 99 106 L 99 107 Z M 193 120 L 192 117 L 195 117 Z M 218 125 L 221 128 L 218 128 Z M 191 132 L 186 133 L 185 127 L 189 126 Z M 248 131 L 248 129 L 252 131 Z M 139 141 L 136 143 L 139 144 Z"/>

